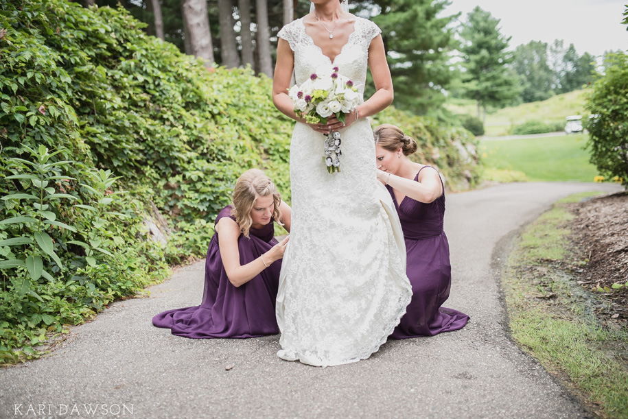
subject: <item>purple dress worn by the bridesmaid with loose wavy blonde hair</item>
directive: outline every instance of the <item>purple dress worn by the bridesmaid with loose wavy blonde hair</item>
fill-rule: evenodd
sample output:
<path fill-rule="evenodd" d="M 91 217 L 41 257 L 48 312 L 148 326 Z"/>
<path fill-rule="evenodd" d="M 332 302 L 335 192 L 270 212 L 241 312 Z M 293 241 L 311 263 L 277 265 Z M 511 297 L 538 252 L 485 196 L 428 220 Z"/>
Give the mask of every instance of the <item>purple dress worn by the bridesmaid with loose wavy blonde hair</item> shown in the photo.
<path fill-rule="evenodd" d="M 229 205 L 220 211 L 216 224 L 222 217 L 235 221 L 231 208 Z M 264 228 L 251 228 L 250 239 L 244 235 L 238 237 L 241 265 L 254 261 L 277 244 L 272 237 L 274 228 L 271 221 Z M 275 298 L 280 270 L 281 259 L 248 283 L 234 287 L 224 272 L 216 233 L 209 241 L 205 259 L 205 290 L 200 306 L 164 311 L 152 318 L 152 324 L 170 328 L 173 335 L 192 339 L 275 335 L 279 333 Z"/>

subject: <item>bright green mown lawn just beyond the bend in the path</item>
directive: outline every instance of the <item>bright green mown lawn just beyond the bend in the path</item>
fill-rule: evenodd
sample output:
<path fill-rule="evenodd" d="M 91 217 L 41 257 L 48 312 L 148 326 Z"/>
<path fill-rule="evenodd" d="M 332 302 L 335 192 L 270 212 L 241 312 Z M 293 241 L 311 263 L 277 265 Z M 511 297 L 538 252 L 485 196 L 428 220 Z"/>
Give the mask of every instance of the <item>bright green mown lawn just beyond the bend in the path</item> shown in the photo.
<path fill-rule="evenodd" d="M 588 136 L 574 134 L 517 140 L 480 141 L 485 167 L 521 171 L 537 181 L 593 182 L 598 171 L 583 149 Z"/>

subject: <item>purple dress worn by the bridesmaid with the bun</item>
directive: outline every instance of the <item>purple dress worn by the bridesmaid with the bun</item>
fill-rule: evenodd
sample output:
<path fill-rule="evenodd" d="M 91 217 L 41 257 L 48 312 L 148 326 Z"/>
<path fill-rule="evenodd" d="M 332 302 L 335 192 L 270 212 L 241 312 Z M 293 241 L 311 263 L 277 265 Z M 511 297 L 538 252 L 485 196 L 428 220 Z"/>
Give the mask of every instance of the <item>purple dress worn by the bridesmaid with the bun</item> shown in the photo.
<path fill-rule="evenodd" d="M 421 170 L 426 167 L 430 166 L 423 166 Z M 418 181 L 419 173 L 415 181 Z M 393 195 L 404 231 L 408 254 L 406 274 L 412 284 L 412 301 L 391 337 L 434 336 L 463 328 L 469 320 L 468 315 L 441 307 L 449 297 L 452 284 L 449 243 L 443 230 L 444 185 L 443 194 L 431 204 L 423 204 L 407 196 L 399 204 L 393 188 L 388 185 L 386 188 Z"/>

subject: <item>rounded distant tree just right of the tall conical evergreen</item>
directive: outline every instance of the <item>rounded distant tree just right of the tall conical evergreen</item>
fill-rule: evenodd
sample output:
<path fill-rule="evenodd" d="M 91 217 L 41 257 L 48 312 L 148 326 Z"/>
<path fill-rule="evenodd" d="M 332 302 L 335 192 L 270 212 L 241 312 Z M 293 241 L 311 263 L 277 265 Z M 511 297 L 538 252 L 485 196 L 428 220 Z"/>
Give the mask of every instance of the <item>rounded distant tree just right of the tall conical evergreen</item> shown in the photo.
<path fill-rule="evenodd" d="M 548 46 L 531 40 L 515 48 L 512 69 L 520 77 L 524 102 L 545 100 L 554 94 L 554 73 L 548 64 Z"/>

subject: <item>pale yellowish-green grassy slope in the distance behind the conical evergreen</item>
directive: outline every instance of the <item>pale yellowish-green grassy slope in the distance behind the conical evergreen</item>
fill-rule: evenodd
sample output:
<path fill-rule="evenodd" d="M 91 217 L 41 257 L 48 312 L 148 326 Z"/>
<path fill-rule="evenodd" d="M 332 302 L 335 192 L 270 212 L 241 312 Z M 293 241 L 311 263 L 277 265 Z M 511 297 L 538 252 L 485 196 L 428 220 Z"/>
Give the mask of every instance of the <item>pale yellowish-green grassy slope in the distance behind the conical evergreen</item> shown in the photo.
<path fill-rule="evenodd" d="M 544 101 L 521 104 L 499 110 L 489 110 L 485 121 L 486 136 L 508 135 L 513 125 L 536 120 L 544 123 L 564 123 L 569 115 L 582 115 L 586 90 L 573 91 L 550 97 Z M 471 99 L 449 99 L 445 107 L 455 114 L 478 114 L 476 102 Z"/>

